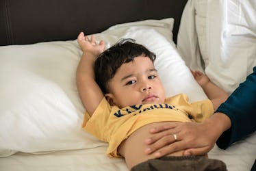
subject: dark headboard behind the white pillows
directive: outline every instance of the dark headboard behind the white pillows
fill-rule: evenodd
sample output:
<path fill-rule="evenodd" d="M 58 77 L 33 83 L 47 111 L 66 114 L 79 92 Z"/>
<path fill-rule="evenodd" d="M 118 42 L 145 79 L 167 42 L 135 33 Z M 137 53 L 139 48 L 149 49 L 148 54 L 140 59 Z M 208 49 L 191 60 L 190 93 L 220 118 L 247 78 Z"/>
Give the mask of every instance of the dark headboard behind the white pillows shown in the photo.
<path fill-rule="evenodd" d="M 80 31 L 144 19 L 179 21 L 187 0 L 0 0 L 0 45 L 75 40 Z"/>

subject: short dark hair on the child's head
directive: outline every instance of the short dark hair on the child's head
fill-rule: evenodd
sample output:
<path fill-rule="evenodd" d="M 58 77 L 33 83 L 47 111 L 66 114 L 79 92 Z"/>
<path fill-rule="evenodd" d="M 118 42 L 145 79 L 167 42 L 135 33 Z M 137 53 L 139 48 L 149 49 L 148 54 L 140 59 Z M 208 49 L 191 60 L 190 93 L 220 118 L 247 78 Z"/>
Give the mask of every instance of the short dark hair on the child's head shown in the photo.
<path fill-rule="evenodd" d="M 109 49 L 103 51 L 94 63 L 94 74 L 96 82 L 103 94 L 108 92 L 107 83 L 114 77 L 118 68 L 133 61 L 134 57 L 143 55 L 155 61 L 155 53 L 149 51 L 141 44 L 137 44 L 133 39 L 119 40 Z"/>

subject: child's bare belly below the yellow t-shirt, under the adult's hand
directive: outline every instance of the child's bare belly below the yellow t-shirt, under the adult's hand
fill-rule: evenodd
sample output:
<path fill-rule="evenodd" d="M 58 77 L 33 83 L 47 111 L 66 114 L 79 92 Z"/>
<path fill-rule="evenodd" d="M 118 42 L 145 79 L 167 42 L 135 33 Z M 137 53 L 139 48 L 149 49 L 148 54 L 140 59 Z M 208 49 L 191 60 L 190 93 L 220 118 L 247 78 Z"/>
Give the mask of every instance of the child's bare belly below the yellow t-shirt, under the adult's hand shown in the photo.
<path fill-rule="evenodd" d="M 136 166 L 138 163 L 155 158 L 153 155 L 146 155 L 146 153 L 144 153 L 144 150 L 146 150 L 145 140 L 146 138 L 151 137 L 151 134 L 149 133 L 150 129 L 166 123 L 168 122 L 154 122 L 151 124 L 146 124 L 145 126 L 140 127 L 140 129 L 137 129 L 135 132 L 133 132 L 127 138 L 127 140 L 124 140 L 120 144 L 118 147 L 118 153 L 125 157 L 125 161 L 129 170 L 133 166 Z M 172 153 L 170 155 L 182 156 L 182 154 L 183 150 Z"/>

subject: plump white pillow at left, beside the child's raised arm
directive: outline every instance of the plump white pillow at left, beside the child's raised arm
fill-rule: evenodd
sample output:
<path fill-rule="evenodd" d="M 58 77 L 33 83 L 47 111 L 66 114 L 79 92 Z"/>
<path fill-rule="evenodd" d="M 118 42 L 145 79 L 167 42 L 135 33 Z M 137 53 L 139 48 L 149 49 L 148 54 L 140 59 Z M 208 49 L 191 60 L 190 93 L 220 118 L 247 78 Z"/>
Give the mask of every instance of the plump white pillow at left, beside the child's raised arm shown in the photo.
<path fill-rule="evenodd" d="M 75 41 L 0 47 L 1 157 L 103 144 L 80 129 L 79 51 Z"/>

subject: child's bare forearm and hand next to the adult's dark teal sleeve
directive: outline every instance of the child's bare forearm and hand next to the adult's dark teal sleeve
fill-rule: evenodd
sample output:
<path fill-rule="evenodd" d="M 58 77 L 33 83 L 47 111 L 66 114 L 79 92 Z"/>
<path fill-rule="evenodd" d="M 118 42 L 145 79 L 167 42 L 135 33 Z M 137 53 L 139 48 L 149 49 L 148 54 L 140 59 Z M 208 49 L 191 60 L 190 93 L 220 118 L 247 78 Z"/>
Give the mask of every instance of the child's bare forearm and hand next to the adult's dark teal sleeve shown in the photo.
<path fill-rule="evenodd" d="M 212 83 L 212 81 L 210 81 L 206 75 L 198 70 L 191 70 L 191 73 L 194 76 L 194 79 L 196 79 L 197 83 L 199 83 L 199 85 L 203 88 L 203 91 L 207 97 L 212 101 L 214 110 L 216 110 L 221 103 L 227 100 L 229 94 Z"/>

